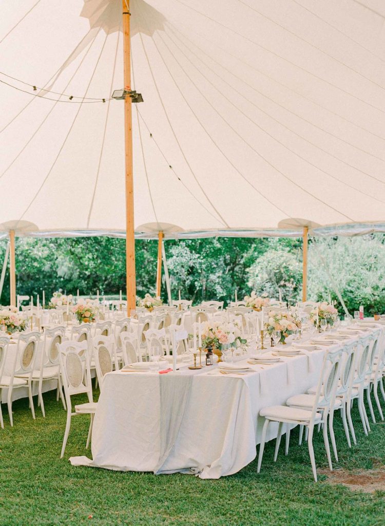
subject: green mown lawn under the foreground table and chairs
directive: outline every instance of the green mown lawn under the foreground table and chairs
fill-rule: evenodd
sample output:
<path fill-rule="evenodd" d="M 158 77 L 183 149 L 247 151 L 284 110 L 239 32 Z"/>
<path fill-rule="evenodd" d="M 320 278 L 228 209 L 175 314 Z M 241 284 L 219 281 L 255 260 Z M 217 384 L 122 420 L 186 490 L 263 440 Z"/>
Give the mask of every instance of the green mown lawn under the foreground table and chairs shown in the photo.
<path fill-rule="evenodd" d="M 265 448 L 262 470 L 256 460 L 231 477 L 200 480 L 193 476 L 121 473 L 72 467 L 70 456 L 85 449 L 89 419 L 73 418 L 65 458 L 60 459 L 66 412 L 54 393 L 45 395 L 46 418 L 38 408 L 32 420 L 26 399 L 14 403 L 14 428 L 3 406 L 0 429 L 0 524 L 3 525 L 309 525 L 373 526 L 385 524 L 385 492 L 352 492 L 331 485 L 326 476 L 312 479 L 306 443 L 292 432 L 289 456 L 283 443 L 276 463 L 273 446 Z M 77 402 L 85 401 L 78 397 Z M 335 430 L 340 461 L 336 468 L 371 468 L 385 464 L 384 424 L 364 436 L 357 411 L 358 445 L 349 449 L 340 422 Z M 322 433 L 316 433 L 318 468 L 325 468 Z M 127 443 L 127 448 L 130 444 Z M 90 517 L 92 516 L 92 517 Z"/>

